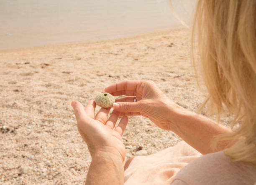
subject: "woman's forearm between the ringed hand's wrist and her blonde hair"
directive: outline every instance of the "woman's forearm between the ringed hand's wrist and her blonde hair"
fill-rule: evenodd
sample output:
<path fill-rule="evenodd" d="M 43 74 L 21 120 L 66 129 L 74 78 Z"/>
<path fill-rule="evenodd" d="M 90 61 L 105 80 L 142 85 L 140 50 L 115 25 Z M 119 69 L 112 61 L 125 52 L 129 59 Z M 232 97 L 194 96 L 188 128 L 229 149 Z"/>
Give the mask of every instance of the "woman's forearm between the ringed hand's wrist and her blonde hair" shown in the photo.
<path fill-rule="evenodd" d="M 216 135 L 232 132 L 229 128 L 195 112 L 181 112 L 173 127 L 174 133 L 202 154 L 224 150 L 231 141 L 221 141 L 212 148 L 211 141 Z"/>

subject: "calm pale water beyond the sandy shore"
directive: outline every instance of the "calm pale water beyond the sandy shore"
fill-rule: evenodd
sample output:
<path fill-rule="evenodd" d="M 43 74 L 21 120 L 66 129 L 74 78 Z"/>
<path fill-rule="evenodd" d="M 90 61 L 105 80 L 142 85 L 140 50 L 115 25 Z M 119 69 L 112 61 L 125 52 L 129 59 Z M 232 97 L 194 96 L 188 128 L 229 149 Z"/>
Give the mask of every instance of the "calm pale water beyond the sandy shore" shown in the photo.
<path fill-rule="evenodd" d="M 173 0 L 189 23 L 194 0 Z M 0 49 L 182 27 L 168 0 L 0 0 Z"/>

